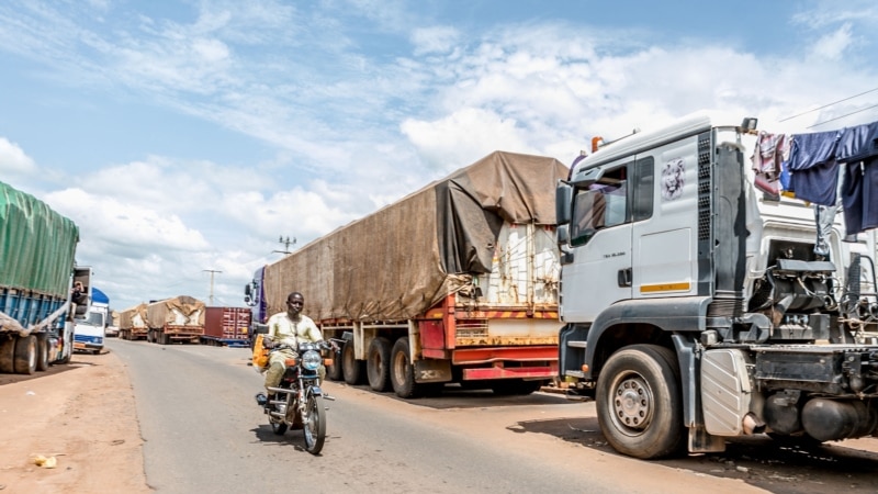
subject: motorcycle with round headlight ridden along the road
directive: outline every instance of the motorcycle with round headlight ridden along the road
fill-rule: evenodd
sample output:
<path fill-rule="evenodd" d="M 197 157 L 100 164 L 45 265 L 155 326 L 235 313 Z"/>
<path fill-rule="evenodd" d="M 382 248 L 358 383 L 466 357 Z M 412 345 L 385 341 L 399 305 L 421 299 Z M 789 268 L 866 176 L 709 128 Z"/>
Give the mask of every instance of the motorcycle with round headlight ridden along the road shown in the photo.
<path fill-rule="evenodd" d="M 323 350 L 334 349 L 335 346 L 329 341 L 304 341 L 299 344 L 297 349 L 280 345 L 272 348 L 269 353 L 284 348 L 296 351 L 297 357 L 286 359 L 286 369 L 283 371 L 281 383 L 277 388 L 268 389 L 273 393 L 273 400 L 268 400 L 264 393 L 259 393 L 256 395 L 256 401 L 262 405 L 274 434 L 282 436 L 288 428 L 302 429 L 305 436 L 305 450 L 312 454 L 319 454 L 326 440 L 324 401 L 335 401 L 335 398 L 320 389 L 318 370 L 324 363 Z"/>

